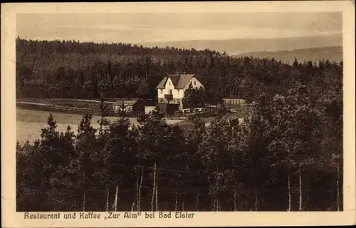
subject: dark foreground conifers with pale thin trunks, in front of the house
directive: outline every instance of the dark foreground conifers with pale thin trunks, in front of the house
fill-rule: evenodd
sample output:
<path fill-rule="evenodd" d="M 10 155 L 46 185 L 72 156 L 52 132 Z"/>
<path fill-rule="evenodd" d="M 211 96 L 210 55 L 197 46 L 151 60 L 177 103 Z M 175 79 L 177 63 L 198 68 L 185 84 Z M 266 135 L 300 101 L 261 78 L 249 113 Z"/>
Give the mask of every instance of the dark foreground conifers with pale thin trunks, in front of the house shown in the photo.
<path fill-rule="evenodd" d="M 243 122 L 192 116 L 187 130 L 158 108 L 98 129 L 84 114 L 76 134 L 54 118 L 17 145 L 18 211 L 342 210 L 340 81 L 321 96 L 298 81 L 258 95 Z"/>

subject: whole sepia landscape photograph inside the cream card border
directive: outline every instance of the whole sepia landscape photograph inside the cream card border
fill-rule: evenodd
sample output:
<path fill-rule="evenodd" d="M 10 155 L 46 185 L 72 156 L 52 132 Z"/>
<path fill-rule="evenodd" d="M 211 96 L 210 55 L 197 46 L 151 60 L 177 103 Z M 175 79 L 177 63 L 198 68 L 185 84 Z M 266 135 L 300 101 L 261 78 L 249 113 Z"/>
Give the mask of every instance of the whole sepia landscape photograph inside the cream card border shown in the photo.
<path fill-rule="evenodd" d="M 181 9 L 16 14 L 21 218 L 345 211 L 342 11 Z"/>

